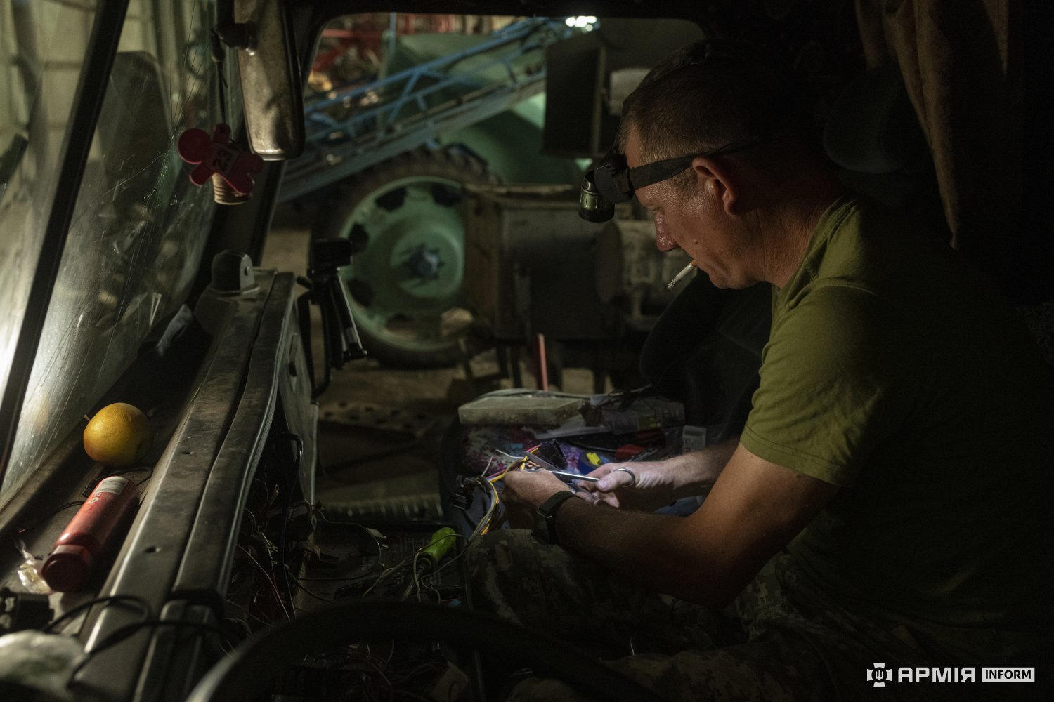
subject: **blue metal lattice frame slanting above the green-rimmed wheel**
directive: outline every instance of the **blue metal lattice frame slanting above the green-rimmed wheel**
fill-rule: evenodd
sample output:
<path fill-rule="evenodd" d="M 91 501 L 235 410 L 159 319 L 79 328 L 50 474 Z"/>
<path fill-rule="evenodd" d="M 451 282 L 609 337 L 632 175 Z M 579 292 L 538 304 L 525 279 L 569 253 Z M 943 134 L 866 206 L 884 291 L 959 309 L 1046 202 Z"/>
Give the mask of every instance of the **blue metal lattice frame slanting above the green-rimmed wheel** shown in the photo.
<path fill-rule="evenodd" d="M 563 19 L 531 18 L 510 24 L 477 46 L 433 59 L 378 81 L 351 85 L 305 100 L 305 153 L 291 161 L 279 201 L 301 197 L 347 176 L 386 161 L 451 132 L 497 115 L 545 87 L 545 64 L 515 66 L 525 54 L 570 37 Z M 500 53 L 499 49 L 501 51 Z M 472 57 L 496 53 L 470 71 L 454 66 Z M 503 79 L 488 73 L 504 68 Z M 458 97 L 438 105 L 429 100 L 444 91 Z M 366 108 L 353 108 L 370 95 L 392 95 Z M 333 117 L 333 111 L 346 112 Z"/>

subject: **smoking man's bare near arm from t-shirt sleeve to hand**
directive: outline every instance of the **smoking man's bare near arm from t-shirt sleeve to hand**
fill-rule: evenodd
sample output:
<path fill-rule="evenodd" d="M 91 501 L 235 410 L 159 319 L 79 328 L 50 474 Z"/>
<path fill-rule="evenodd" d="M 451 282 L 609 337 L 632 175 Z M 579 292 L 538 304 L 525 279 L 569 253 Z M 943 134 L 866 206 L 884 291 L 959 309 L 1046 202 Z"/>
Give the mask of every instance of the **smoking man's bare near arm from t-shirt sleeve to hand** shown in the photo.
<path fill-rule="evenodd" d="M 532 479 L 542 478 L 534 485 Z M 518 500 L 541 504 L 552 476 L 506 476 Z M 647 587 L 727 606 L 761 566 L 838 492 L 836 485 L 761 459 L 740 445 L 709 496 L 686 518 L 568 500 L 558 513 L 562 545 Z M 535 504 L 535 506 L 536 506 Z"/>

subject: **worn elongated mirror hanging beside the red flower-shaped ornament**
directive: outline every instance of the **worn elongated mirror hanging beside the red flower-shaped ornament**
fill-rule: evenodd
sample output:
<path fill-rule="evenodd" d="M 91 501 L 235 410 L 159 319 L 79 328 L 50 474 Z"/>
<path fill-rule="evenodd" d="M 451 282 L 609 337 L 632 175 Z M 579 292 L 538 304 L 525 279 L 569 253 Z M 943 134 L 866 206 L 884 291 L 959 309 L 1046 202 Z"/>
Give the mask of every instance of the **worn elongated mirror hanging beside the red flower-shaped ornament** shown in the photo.
<path fill-rule="evenodd" d="M 296 158 L 304 151 L 304 91 L 286 3 L 232 1 L 230 21 L 220 19 L 217 31 L 238 49 L 249 144 L 266 161 Z"/>

